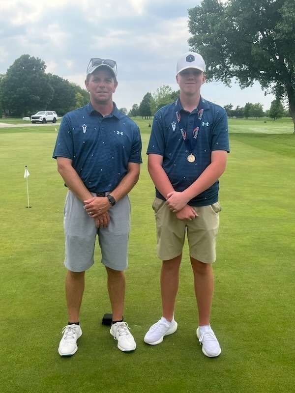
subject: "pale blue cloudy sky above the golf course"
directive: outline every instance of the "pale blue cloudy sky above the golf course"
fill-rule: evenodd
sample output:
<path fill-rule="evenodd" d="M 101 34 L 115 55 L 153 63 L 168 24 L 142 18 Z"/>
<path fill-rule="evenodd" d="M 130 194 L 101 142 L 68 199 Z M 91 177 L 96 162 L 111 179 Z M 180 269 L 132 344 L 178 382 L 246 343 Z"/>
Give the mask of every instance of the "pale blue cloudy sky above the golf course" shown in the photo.
<path fill-rule="evenodd" d="M 0 73 L 23 54 L 45 61 L 52 72 L 84 87 L 91 57 L 118 64 L 118 107 L 130 109 L 157 87 L 177 89 L 177 58 L 189 50 L 187 9 L 199 0 L 0 0 Z M 205 59 L 206 60 L 206 59 Z M 220 105 L 261 102 L 272 95 L 259 84 L 241 90 L 207 83 L 202 95 Z"/>

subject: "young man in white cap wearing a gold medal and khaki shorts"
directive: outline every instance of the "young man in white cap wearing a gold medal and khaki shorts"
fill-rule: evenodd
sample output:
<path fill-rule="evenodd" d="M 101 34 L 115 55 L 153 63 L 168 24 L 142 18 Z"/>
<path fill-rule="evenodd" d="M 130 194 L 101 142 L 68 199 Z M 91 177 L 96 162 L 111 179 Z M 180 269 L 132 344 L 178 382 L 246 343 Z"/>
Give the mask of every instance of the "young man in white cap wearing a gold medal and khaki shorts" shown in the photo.
<path fill-rule="evenodd" d="M 218 178 L 229 151 L 226 112 L 205 101 L 205 61 L 188 52 L 177 61 L 179 98 L 154 116 L 148 145 L 148 170 L 156 187 L 153 203 L 157 251 L 162 262 L 162 318 L 151 326 L 145 342 L 159 344 L 177 330 L 174 305 L 178 272 L 187 231 L 199 311 L 197 337 L 209 357 L 221 353 L 210 327 L 213 293 L 211 263 L 219 225 Z"/>

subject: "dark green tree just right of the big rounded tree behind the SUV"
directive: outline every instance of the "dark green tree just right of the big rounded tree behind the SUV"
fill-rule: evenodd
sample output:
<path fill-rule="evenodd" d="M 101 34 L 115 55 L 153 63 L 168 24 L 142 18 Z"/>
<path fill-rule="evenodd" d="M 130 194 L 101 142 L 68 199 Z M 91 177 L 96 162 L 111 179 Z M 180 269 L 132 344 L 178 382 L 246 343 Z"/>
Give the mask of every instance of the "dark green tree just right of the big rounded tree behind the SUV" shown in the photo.
<path fill-rule="evenodd" d="M 63 116 L 76 104 L 75 89 L 72 84 L 58 75 L 48 74 L 48 76 L 54 94 L 46 109 L 56 111 L 58 115 Z"/>

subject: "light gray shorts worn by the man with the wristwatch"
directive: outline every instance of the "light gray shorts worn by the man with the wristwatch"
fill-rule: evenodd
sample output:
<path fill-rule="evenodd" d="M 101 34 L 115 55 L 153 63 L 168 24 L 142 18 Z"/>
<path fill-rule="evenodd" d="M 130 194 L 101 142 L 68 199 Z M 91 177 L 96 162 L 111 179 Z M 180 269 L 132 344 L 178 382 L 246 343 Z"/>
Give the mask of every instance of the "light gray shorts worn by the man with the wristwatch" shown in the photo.
<path fill-rule="evenodd" d="M 92 194 L 95 195 L 95 194 Z M 83 202 L 70 190 L 65 198 L 63 226 L 65 234 L 64 266 L 72 272 L 84 272 L 94 263 L 96 234 L 101 249 L 101 263 L 114 270 L 128 265 L 127 247 L 130 230 L 130 201 L 126 195 L 108 213 L 110 224 L 96 228 Z"/>

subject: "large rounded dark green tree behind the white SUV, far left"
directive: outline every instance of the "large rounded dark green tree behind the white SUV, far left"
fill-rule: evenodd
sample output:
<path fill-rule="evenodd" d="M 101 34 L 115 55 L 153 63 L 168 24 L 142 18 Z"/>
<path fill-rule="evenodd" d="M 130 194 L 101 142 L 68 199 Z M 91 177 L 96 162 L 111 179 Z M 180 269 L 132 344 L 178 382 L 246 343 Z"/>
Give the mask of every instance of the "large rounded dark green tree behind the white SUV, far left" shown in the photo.
<path fill-rule="evenodd" d="M 14 61 L 2 83 L 5 112 L 12 116 L 24 116 L 47 109 L 54 89 L 45 69 L 45 62 L 38 57 L 22 55 Z"/>

